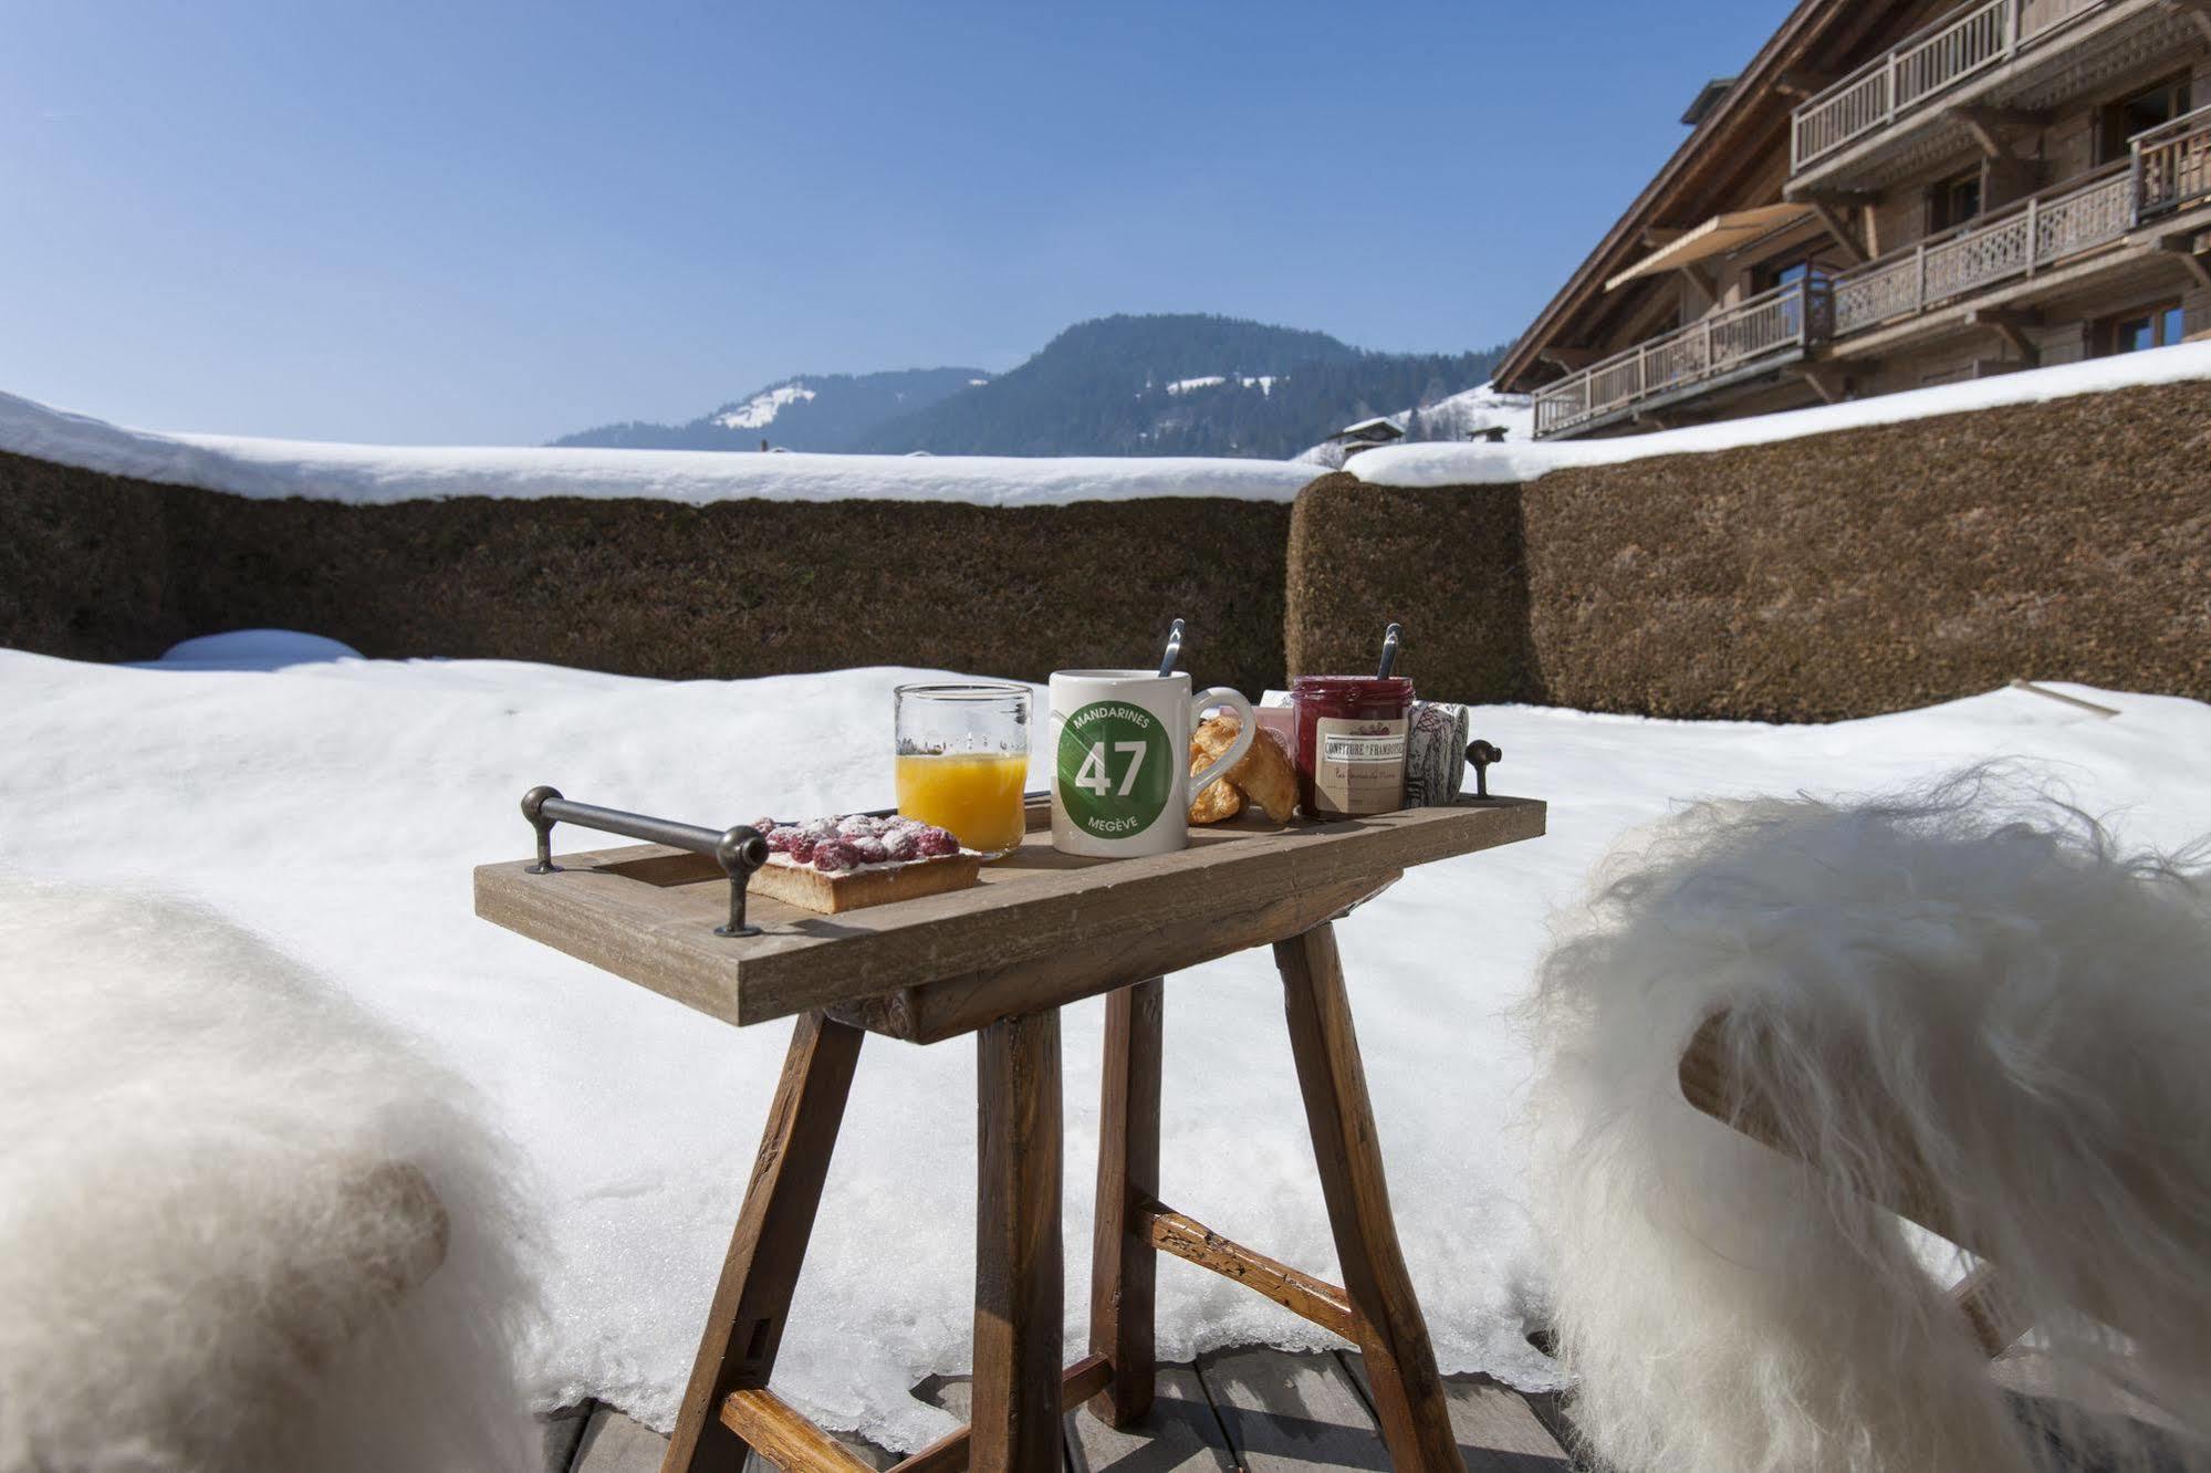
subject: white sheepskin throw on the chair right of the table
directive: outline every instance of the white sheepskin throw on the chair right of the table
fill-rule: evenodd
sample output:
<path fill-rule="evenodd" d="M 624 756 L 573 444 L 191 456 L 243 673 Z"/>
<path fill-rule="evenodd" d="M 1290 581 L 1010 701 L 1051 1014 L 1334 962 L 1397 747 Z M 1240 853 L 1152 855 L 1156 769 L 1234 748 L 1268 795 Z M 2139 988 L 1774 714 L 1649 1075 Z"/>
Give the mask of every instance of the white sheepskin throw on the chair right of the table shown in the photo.
<path fill-rule="evenodd" d="M 1694 807 L 1543 960 L 1539 1214 L 1607 1466 L 2211 1469 L 2211 905 L 2001 790 Z M 1722 1009 L 1786 1155 L 1680 1095 Z M 1871 1205 L 1906 1201 L 1910 1155 L 2034 1327 L 2054 1438 L 1946 1298 L 1963 1254 Z M 2074 1404 L 2112 1382 L 2167 1433 Z"/>

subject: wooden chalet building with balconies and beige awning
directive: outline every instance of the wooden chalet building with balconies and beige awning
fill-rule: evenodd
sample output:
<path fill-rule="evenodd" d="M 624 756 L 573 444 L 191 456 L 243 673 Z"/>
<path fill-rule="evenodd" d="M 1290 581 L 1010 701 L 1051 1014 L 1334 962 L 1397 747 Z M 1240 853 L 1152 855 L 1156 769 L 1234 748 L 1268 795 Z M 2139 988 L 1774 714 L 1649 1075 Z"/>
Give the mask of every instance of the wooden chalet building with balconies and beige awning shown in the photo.
<path fill-rule="evenodd" d="M 2211 0 L 1804 0 L 1499 365 L 1537 436 L 2211 338 Z"/>

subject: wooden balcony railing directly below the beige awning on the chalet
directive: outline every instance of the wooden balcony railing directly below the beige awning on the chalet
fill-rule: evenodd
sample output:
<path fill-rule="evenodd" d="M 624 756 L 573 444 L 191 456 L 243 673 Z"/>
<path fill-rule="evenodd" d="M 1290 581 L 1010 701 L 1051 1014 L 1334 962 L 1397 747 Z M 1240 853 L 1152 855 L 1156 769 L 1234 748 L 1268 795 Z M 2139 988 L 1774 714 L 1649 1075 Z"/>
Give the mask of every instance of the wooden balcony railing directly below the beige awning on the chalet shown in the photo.
<path fill-rule="evenodd" d="M 1802 352 L 1826 338 L 1831 327 L 1826 283 L 1791 281 L 1541 389 L 1534 396 L 1534 431 L 1554 436 L 1760 358 Z"/>

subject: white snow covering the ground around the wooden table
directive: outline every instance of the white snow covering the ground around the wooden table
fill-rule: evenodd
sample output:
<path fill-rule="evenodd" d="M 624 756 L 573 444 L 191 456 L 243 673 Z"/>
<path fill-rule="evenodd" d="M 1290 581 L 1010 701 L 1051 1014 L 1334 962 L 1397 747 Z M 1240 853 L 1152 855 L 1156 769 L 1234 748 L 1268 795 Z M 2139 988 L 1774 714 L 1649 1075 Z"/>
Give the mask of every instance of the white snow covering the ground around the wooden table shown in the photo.
<path fill-rule="evenodd" d="M 502 661 L 248 672 L 0 652 L 0 871 L 188 891 L 427 1040 L 544 1181 L 533 1208 L 555 1320 L 531 1351 L 542 1404 L 601 1396 L 666 1427 L 789 1028 L 730 1028 L 480 922 L 469 871 L 528 852 L 515 803 L 535 783 L 696 823 L 884 805 L 891 686 L 907 679 L 940 675 L 663 683 Z M 1477 732 L 1508 754 L 1492 779 L 1548 798 L 1550 836 L 1415 869 L 1340 927 L 1444 1367 L 1554 1385 L 1523 1340 L 1541 1254 L 1508 1128 L 1528 1044 L 1506 1009 L 1548 913 L 1610 840 L 1698 794 L 1888 787 L 2003 754 L 2054 763 L 2134 840 L 2193 838 L 2211 814 L 2211 708 L 2065 690 L 2120 714 L 2019 690 L 1795 728 L 1477 710 Z M 1099 1024 L 1099 1002 L 1068 1009 L 1070 1358 L 1086 1320 Z M 829 1424 L 904 1446 L 951 1424 L 907 1389 L 968 1356 L 973 1057 L 962 1044 L 862 1053 L 776 1376 Z M 1165 1101 L 1163 1199 L 1333 1274 L 1267 953 L 1174 980 Z M 1161 1265 L 1159 1298 L 1170 1358 L 1322 1343 L 1176 1261 Z"/>

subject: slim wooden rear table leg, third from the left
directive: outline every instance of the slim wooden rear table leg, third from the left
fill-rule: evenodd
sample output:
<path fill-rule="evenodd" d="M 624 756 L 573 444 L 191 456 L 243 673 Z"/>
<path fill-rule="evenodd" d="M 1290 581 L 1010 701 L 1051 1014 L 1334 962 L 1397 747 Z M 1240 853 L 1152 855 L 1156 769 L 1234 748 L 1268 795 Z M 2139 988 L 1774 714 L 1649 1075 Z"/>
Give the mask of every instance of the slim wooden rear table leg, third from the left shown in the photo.
<path fill-rule="evenodd" d="M 1106 1088 L 1099 1099 L 1099 1199 L 1090 1247 L 1090 1354 L 1112 1385 L 1090 1415 L 1128 1427 L 1152 1409 L 1152 1289 L 1159 1252 L 1136 1205 L 1159 1199 L 1159 1044 L 1165 982 L 1106 995 Z"/>

